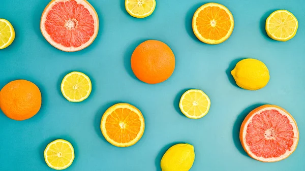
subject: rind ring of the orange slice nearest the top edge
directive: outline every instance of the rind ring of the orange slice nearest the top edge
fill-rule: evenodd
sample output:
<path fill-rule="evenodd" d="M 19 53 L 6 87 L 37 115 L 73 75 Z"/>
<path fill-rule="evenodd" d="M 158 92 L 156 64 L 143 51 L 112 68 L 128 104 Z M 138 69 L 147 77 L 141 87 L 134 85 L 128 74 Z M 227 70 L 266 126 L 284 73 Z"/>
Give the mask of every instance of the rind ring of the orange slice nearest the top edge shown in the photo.
<path fill-rule="evenodd" d="M 227 14 L 229 15 L 230 17 L 230 20 L 231 20 L 231 26 L 230 26 L 230 29 L 228 30 L 228 33 L 225 37 L 223 37 L 222 39 L 220 40 L 210 40 L 210 39 L 206 39 L 204 38 L 203 36 L 201 36 L 200 32 L 198 31 L 197 29 L 197 24 L 196 24 L 196 19 L 198 17 L 198 14 L 206 7 L 219 7 L 223 10 L 225 10 L 227 12 Z M 234 18 L 233 18 L 233 15 L 232 13 L 230 12 L 230 10 L 225 7 L 224 5 L 221 5 L 221 4 L 218 4 L 218 3 L 207 3 L 207 4 L 204 4 L 203 6 L 199 7 L 197 9 L 197 11 L 195 12 L 194 16 L 193 16 L 193 21 L 192 21 L 192 25 L 193 25 L 193 31 L 194 31 L 194 34 L 195 36 L 203 43 L 206 43 L 206 44 L 211 44 L 211 45 L 215 45 L 215 44 L 220 44 L 220 43 L 223 43 L 225 42 L 227 39 L 229 39 L 229 37 L 231 36 L 232 32 L 233 32 L 233 28 L 234 28 Z"/>

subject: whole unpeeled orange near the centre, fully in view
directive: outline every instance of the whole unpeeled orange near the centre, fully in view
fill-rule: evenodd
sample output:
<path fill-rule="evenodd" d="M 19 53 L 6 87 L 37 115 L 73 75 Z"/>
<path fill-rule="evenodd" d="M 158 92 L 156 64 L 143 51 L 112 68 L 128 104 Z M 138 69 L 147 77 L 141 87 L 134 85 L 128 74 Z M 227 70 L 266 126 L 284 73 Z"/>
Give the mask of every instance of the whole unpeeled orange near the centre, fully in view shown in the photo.
<path fill-rule="evenodd" d="M 141 43 L 131 56 L 135 76 L 148 84 L 167 80 L 175 70 L 175 55 L 165 43 L 148 40 Z"/>

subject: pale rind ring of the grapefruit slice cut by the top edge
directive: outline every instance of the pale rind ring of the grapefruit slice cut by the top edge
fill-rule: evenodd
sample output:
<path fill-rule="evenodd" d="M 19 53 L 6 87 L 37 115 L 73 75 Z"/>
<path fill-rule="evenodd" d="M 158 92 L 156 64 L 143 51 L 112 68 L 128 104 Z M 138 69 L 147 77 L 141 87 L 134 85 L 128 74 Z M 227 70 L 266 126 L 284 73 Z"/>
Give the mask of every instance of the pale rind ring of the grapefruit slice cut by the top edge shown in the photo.
<path fill-rule="evenodd" d="M 94 35 L 92 37 L 90 37 L 90 39 L 85 43 L 82 44 L 80 47 L 65 47 L 61 44 L 58 44 L 56 42 L 54 42 L 50 35 L 46 32 L 46 28 L 45 28 L 45 21 L 46 21 L 46 17 L 49 13 L 49 11 L 52 9 L 52 7 L 59 2 L 67 2 L 70 0 L 52 0 L 44 9 L 42 16 L 41 16 L 41 21 L 40 21 L 40 30 L 41 33 L 43 35 L 43 37 L 55 48 L 65 51 L 65 52 L 76 52 L 76 51 L 80 51 L 82 49 L 85 49 L 86 47 L 88 47 L 90 44 L 92 44 L 94 42 L 94 40 L 96 39 L 97 35 L 98 35 L 98 31 L 99 31 L 99 18 L 98 18 L 98 14 L 95 11 L 94 7 L 89 4 L 89 2 L 87 2 L 86 0 L 74 0 L 76 1 L 78 4 L 83 5 L 89 12 L 90 15 L 92 15 L 93 19 L 94 19 Z"/>

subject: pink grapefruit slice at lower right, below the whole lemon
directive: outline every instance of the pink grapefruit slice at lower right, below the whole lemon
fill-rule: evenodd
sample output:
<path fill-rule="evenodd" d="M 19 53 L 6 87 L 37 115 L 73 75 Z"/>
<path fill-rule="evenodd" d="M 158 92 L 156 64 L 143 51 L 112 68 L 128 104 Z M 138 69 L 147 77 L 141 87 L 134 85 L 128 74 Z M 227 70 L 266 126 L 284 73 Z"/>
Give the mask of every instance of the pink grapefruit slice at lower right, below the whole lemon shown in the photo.
<path fill-rule="evenodd" d="M 250 157 L 262 162 L 276 162 L 294 152 L 299 132 L 287 111 L 275 105 L 263 105 L 243 120 L 239 139 Z"/>

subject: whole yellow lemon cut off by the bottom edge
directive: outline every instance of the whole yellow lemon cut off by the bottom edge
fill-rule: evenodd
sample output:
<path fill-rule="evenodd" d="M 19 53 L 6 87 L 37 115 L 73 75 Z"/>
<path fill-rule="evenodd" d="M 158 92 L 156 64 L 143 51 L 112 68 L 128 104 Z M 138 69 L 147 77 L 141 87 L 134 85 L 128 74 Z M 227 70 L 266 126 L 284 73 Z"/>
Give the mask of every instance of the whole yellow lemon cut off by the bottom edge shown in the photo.
<path fill-rule="evenodd" d="M 169 148 L 161 159 L 162 171 L 188 171 L 195 160 L 194 146 L 176 144 Z"/>

